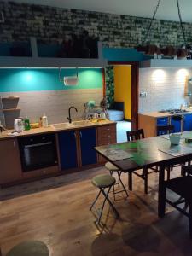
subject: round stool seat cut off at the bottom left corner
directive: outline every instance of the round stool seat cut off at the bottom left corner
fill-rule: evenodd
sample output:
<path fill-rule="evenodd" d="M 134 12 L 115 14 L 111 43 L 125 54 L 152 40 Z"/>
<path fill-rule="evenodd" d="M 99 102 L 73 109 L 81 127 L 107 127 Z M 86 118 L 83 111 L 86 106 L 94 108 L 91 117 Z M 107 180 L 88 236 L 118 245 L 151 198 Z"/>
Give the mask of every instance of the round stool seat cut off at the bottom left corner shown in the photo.
<path fill-rule="evenodd" d="M 6 256 L 49 256 L 49 249 L 42 241 L 24 241 L 13 247 Z"/>

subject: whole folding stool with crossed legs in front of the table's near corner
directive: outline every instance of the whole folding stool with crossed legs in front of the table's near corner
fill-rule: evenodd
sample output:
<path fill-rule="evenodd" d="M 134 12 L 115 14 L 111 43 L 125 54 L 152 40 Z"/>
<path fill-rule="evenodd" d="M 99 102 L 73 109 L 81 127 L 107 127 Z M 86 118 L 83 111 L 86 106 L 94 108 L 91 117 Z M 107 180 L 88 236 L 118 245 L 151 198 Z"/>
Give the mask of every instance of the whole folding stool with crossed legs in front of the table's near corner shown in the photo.
<path fill-rule="evenodd" d="M 104 201 L 102 202 L 102 210 L 99 214 L 99 217 L 96 220 L 96 223 L 100 224 L 100 221 L 102 218 L 102 211 L 103 211 L 106 201 L 108 201 L 110 207 L 112 207 L 115 217 L 119 218 L 119 212 L 113 206 L 112 201 L 110 201 L 110 199 L 108 198 L 108 193 L 109 193 L 110 189 L 116 183 L 115 178 L 111 175 L 103 174 L 103 175 L 97 175 L 96 177 L 93 177 L 91 182 L 94 186 L 96 186 L 96 188 L 100 189 L 100 191 L 99 191 L 98 195 L 96 195 L 96 199 L 95 199 L 95 201 L 93 201 L 93 203 L 90 207 L 90 211 L 91 211 L 92 207 L 95 205 L 97 199 L 99 198 L 99 195 L 102 193 L 102 195 L 104 196 Z M 105 192 L 105 189 L 108 189 L 107 192 Z"/>

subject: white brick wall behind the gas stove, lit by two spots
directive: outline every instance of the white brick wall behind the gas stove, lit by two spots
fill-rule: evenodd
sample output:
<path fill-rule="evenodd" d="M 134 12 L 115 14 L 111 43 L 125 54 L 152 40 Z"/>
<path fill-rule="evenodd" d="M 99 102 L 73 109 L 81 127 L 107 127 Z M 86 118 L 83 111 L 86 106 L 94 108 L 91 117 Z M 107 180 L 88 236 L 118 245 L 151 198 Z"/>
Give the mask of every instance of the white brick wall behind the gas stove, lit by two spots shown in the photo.
<path fill-rule="evenodd" d="M 140 68 L 139 92 L 147 92 L 147 97 L 139 97 L 139 113 L 180 108 L 189 103 L 191 98 L 184 91 L 191 77 L 192 68 Z"/>

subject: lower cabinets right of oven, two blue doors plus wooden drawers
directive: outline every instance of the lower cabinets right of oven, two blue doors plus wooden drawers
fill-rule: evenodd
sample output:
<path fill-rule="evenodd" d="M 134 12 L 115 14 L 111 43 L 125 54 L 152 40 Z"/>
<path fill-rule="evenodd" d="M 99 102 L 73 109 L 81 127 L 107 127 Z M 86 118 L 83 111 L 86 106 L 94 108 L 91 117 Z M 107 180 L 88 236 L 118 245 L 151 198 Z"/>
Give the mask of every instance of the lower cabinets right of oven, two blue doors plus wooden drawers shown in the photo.
<path fill-rule="evenodd" d="M 96 145 L 116 143 L 116 124 L 62 131 L 58 133 L 61 170 L 104 162 L 97 156 Z"/>

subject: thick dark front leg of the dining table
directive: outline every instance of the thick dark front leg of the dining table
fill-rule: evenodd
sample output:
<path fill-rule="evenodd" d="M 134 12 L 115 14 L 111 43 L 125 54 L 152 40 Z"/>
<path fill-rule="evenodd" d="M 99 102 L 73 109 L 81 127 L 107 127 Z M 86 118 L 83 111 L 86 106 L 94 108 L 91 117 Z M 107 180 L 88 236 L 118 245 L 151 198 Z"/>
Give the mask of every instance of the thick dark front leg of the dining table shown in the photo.
<path fill-rule="evenodd" d="M 163 218 L 166 211 L 166 186 L 165 166 L 160 166 L 159 172 L 159 194 L 158 194 L 158 216 Z"/>

